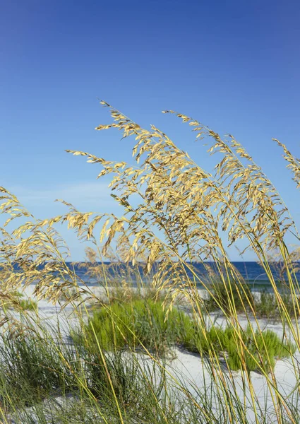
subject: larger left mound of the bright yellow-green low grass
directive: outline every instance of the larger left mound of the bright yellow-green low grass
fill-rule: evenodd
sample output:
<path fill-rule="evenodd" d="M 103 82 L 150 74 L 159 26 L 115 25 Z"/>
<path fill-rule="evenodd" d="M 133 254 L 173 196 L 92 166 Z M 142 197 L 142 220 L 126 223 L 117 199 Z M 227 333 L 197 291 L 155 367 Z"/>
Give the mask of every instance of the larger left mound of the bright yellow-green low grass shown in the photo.
<path fill-rule="evenodd" d="M 148 298 L 123 304 L 113 302 L 95 310 L 85 331 L 95 348 L 97 343 L 106 351 L 144 346 L 161 354 L 179 340 L 185 328 L 189 329 L 190 321 L 184 312 L 175 308 L 166 319 L 162 303 Z"/>

